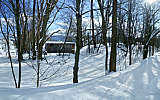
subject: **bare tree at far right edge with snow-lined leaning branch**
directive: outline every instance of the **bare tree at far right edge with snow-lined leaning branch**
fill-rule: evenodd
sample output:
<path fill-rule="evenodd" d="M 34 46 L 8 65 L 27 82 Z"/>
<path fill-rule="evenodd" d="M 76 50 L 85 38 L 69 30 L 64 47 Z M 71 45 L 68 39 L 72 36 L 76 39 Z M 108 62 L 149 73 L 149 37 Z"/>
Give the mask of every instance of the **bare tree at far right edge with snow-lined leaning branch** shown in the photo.
<path fill-rule="evenodd" d="M 159 33 L 159 29 L 155 29 L 155 19 L 153 19 L 158 11 L 160 10 L 159 7 L 152 7 L 145 5 L 144 6 L 144 17 L 143 17 L 143 25 L 144 25 L 144 47 L 143 47 L 143 59 L 147 58 L 150 41 L 152 40 L 153 34 L 156 36 Z M 159 21 L 159 19 L 158 19 Z M 156 22 L 158 22 L 156 21 Z"/>

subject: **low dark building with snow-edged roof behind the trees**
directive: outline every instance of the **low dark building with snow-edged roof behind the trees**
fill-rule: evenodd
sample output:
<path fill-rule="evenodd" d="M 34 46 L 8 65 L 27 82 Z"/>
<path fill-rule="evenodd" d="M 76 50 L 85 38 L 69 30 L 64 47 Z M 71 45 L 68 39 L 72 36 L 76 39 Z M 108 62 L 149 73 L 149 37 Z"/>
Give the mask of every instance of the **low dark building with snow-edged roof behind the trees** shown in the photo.
<path fill-rule="evenodd" d="M 75 53 L 74 37 L 56 33 L 45 43 L 44 48 L 47 53 Z"/>

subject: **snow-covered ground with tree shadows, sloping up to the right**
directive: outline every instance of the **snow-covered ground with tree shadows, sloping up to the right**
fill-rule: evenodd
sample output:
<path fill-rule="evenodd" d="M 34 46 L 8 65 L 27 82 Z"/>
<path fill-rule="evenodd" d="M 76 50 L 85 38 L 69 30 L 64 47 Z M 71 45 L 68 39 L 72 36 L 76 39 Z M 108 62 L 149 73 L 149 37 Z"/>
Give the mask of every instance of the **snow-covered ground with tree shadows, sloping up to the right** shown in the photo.
<path fill-rule="evenodd" d="M 160 53 L 105 76 L 104 49 L 95 54 L 85 51 L 86 48 L 81 50 L 78 84 L 72 84 L 74 55 L 63 59 L 48 55 L 48 61 L 57 62 L 63 74 L 41 81 L 38 89 L 35 72 L 26 62 L 22 64 L 22 88 L 15 89 L 9 60 L 0 55 L 0 100 L 160 100 Z M 65 63 L 59 62 L 62 60 Z M 13 62 L 17 72 L 14 58 Z"/>

